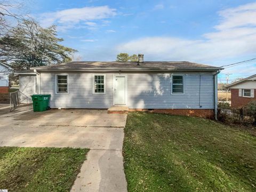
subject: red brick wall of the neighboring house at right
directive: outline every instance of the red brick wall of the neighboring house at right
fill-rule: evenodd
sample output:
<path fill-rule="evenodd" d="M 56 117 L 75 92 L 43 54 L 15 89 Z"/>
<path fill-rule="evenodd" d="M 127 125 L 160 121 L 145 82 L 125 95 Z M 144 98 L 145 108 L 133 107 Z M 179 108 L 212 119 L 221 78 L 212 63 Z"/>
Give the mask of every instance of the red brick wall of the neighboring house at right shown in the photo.
<path fill-rule="evenodd" d="M 239 97 L 239 89 L 231 89 L 231 107 L 241 108 L 249 101 L 256 100 L 256 89 L 254 89 L 254 98 Z"/>

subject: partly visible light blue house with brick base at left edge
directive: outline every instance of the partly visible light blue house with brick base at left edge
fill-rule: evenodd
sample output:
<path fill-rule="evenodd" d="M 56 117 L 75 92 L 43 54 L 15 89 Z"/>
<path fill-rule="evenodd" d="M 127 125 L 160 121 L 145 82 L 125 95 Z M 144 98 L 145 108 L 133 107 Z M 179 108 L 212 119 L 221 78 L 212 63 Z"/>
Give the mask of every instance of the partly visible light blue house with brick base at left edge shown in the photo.
<path fill-rule="evenodd" d="M 0 93 L 9 93 L 9 74 L 11 67 L 0 62 Z"/>

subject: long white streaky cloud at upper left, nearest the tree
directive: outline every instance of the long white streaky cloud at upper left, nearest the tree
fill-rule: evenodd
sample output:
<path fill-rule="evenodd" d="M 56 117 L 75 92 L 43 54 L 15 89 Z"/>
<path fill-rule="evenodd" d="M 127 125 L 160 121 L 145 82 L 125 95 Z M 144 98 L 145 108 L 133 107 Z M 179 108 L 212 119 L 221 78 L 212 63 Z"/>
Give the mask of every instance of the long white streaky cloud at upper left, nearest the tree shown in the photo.
<path fill-rule="evenodd" d="M 67 30 L 76 25 L 95 27 L 97 23 L 94 21 L 111 18 L 115 15 L 116 9 L 111 9 L 109 6 L 92 6 L 42 13 L 39 15 L 39 20 L 43 27 L 55 24 L 61 30 Z"/>

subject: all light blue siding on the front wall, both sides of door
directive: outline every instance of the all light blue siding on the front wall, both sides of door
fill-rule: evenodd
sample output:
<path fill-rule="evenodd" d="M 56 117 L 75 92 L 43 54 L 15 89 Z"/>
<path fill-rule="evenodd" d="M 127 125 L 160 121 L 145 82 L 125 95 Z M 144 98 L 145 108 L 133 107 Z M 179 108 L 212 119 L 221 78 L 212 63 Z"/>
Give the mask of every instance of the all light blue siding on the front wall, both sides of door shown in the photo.
<path fill-rule="evenodd" d="M 109 108 L 113 106 L 113 73 L 106 74 L 106 93 L 93 94 L 92 73 L 68 73 L 68 94 L 55 91 L 55 75 L 41 74 L 41 94 L 51 94 L 52 108 Z M 63 73 L 65 74 L 65 73 Z M 95 75 L 97 73 L 94 73 Z M 127 106 L 132 109 L 213 109 L 213 74 L 201 74 L 199 104 L 198 73 L 184 75 L 184 94 L 171 94 L 171 74 L 126 73 Z M 200 107 L 202 106 L 202 107 Z"/>

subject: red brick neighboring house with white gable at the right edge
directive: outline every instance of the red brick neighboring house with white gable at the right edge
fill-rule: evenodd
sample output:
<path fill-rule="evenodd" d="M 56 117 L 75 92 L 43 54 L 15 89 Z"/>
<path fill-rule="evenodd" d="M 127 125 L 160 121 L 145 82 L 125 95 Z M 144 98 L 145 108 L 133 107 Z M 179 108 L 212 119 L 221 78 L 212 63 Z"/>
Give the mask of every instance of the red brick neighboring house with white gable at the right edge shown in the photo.
<path fill-rule="evenodd" d="M 256 100 L 256 74 L 223 87 L 231 90 L 231 107 L 241 108 Z"/>

